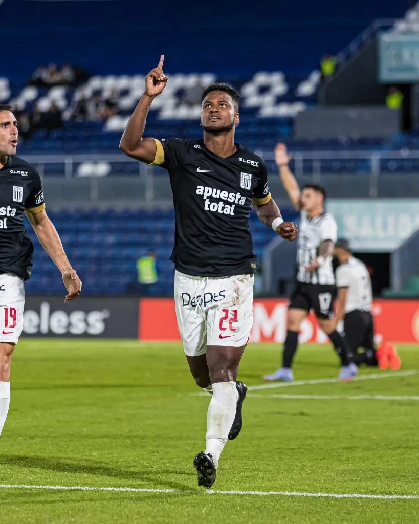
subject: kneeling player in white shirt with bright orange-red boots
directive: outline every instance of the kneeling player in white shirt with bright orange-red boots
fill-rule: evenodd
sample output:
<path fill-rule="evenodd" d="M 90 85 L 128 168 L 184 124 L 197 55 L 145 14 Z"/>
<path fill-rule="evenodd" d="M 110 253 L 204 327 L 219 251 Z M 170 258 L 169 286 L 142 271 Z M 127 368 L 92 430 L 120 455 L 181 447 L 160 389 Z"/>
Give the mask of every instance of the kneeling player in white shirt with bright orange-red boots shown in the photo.
<path fill-rule="evenodd" d="M 371 314 L 372 286 L 367 267 L 352 255 L 349 242 L 339 238 L 334 255 L 339 262 L 336 269 L 338 291 L 336 318 L 344 322 L 344 336 L 348 343 L 351 362 L 357 366 L 378 366 L 380 369 L 400 369 L 396 348 L 383 344 L 376 351 L 374 318 Z M 362 347 L 364 351 L 359 352 Z"/>

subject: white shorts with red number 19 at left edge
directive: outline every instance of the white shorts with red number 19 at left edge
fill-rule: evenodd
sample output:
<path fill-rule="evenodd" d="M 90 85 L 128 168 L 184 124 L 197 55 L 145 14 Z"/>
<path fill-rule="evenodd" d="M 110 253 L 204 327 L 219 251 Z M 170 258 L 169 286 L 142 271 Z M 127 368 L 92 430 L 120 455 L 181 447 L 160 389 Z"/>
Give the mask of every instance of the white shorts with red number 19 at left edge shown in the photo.
<path fill-rule="evenodd" d="M 0 275 L 0 342 L 17 344 L 23 330 L 24 281 L 5 273 Z"/>

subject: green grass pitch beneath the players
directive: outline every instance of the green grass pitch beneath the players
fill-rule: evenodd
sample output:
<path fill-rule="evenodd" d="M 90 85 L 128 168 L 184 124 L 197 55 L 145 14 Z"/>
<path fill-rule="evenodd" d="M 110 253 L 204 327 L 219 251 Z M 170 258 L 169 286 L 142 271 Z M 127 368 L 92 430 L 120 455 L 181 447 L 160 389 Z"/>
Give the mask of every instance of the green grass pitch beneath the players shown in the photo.
<path fill-rule="evenodd" d="M 226 493 L 417 496 L 419 347 L 399 352 L 401 372 L 363 368 L 365 380 L 341 384 L 324 380 L 338 374 L 328 346 L 301 347 L 297 383 L 249 390 L 244 428 L 220 459 L 214 489 L 223 493 L 208 494 L 192 462 L 205 446 L 210 398 L 199 395 L 180 344 L 25 339 L 12 366 L 0 484 L 168 491 L 0 487 L 0 520 L 419 522 L 418 499 Z M 240 379 L 264 385 L 279 361 L 278 346 L 249 345 Z"/>

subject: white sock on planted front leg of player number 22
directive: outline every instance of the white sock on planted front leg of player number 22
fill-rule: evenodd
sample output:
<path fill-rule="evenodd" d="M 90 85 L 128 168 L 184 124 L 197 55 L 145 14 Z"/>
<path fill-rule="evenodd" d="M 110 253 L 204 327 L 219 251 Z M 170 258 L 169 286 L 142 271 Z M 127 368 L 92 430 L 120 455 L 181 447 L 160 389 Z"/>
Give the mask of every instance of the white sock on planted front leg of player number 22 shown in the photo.
<path fill-rule="evenodd" d="M 215 467 L 218 467 L 219 457 L 236 416 L 237 398 L 235 382 L 213 384 L 213 397 L 208 407 L 205 453 L 211 453 Z"/>

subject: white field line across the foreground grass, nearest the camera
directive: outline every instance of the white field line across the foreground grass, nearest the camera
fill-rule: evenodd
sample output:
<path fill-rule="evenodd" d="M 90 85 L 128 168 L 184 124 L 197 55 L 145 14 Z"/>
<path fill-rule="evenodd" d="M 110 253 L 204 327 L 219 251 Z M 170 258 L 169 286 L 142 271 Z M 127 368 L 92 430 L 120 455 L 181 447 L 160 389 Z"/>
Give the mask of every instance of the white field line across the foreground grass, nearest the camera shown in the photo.
<path fill-rule="evenodd" d="M 190 493 L 207 495 L 277 495 L 284 497 L 318 497 L 318 498 L 376 498 L 376 499 L 419 499 L 419 495 L 373 495 L 364 493 L 310 493 L 310 492 L 261 492 L 261 491 L 236 491 L 236 490 L 202 490 L 194 489 L 153 489 L 153 488 L 128 488 L 128 487 L 96 487 L 96 486 L 31 486 L 28 484 L 0 484 L 0 489 L 51 489 L 61 491 L 98 491 L 98 492 L 132 492 L 132 493 Z"/>

